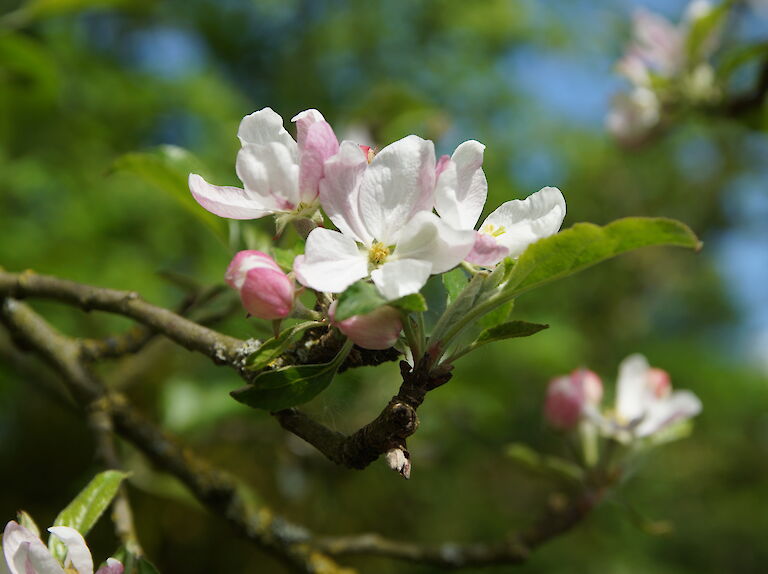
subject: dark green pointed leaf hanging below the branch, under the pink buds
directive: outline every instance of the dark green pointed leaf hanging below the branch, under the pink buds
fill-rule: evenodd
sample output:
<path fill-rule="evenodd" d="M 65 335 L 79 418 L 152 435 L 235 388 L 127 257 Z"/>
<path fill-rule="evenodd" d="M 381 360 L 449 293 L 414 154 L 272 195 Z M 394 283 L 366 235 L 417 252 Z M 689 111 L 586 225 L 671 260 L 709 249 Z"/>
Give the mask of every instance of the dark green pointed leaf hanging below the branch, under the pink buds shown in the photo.
<path fill-rule="evenodd" d="M 330 363 L 265 371 L 251 384 L 232 391 L 230 395 L 250 407 L 268 411 L 280 411 L 306 403 L 331 384 L 351 348 L 352 342 L 348 340 Z"/>

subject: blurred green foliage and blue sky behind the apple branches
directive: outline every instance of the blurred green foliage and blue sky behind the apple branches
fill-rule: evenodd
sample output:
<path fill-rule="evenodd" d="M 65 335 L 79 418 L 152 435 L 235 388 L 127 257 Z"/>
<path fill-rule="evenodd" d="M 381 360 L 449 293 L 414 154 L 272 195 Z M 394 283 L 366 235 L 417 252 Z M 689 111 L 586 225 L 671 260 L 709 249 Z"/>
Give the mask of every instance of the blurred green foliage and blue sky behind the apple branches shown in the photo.
<path fill-rule="evenodd" d="M 612 66 L 639 5 L 3 0 L 0 264 L 135 289 L 171 307 L 184 292 L 168 273 L 220 283 L 237 230 L 196 208 L 183 177 L 193 165 L 210 181 L 237 184 L 237 124 L 264 106 L 286 122 L 316 107 L 337 134 L 367 134 L 379 147 L 417 133 L 451 153 L 477 139 L 488 146 L 488 211 L 556 185 L 568 201 L 566 225 L 679 218 L 703 239 L 700 254 L 646 250 L 521 298 L 516 316 L 551 328 L 460 362 L 421 411 L 408 482 L 381 463 L 335 468 L 268 415 L 231 400 L 234 373 L 163 341 L 105 373 L 265 504 L 314 531 L 482 541 L 528 524 L 552 492 L 504 457 L 512 442 L 565 451 L 542 424 L 547 381 L 580 365 L 612 381 L 624 356 L 643 352 L 702 398 L 693 436 L 653 452 L 585 524 L 518 571 L 764 572 L 768 114 L 758 110 L 748 125 L 693 117 L 643 148 L 617 147 L 603 117 L 622 88 Z M 642 5 L 677 18 L 684 4 Z M 768 18 L 740 6 L 725 43 L 766 39 Z M 736 82 L 748 86 L 752 72 L 746 65 Z M 247 222 L 239 232 L 258 243 L 271 225 Z M 128 326 L 34 307 L 71 334 Z M 219 328 L 263 334 L 239 311 Z M 394 364 L 349 372 L 310 409 L 353 430 L 397 381 Z M 85 423 L 40 382 L 7 355 L 0 362 L 0 516 L 24 508 L 42 525 L 98 465 Z M 282 571 L 125 452 L 140 537 L 161 571 Z M 96 556 L 115 544 L 102 522 Z M 364 572 L 431 571 L 349 562 Z"/>

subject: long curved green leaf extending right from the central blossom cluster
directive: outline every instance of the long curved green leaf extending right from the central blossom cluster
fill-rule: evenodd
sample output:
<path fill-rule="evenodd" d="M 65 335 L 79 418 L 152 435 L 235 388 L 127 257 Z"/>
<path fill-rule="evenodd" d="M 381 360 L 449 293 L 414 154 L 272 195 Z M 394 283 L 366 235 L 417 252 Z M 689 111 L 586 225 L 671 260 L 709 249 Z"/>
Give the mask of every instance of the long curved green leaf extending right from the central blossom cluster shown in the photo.
<path fill-rule="evenodd" d="M 673 219 L 627 217 L 605 227 L 577 223 L 528 247 L 512 267 L 504 293 L 517 296 L 616 255 L 654 245 L 701 248 L 693 231 Z"/>

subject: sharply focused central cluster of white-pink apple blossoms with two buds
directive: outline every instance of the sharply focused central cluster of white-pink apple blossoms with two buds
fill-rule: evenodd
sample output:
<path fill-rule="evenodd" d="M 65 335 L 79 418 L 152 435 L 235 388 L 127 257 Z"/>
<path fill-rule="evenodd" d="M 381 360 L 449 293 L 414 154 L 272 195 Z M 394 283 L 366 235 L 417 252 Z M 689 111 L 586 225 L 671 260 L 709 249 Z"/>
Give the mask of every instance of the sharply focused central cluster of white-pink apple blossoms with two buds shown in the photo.
<path fill-rule="evenodd" d="M 409 135 L 377 153 L 357 142 L 339 142 L 317 110 L 301 112 L 293 122 L 296 140 L 270 108 L 243 119 L 236 162 L 242 188 L 189 176 L 195 200 L 216 215 L 274 215 L 278 232 L 295 220 L 311 228 L 289 273 L 259 251 L 243 251 L 232 260 L 227 281 L 255 317 L 292 316 L 301 286 L 332 298 L 369 281 L 385 301 L 394 302 L 462 262 L 492 268 L 516 258 L 556 233 L 565 217 L 563 195 L 546 187 L 502 204 L 475 230 L 488 195 L 485 146 L 477 141 L 438 158 L 432 141 Z M 325 227 L 324 215 L 336 229 Z M 333 306 L 326 313 L 366 348 L 391 346 L 402 328 L 391 307 L 339 322 Z"/>

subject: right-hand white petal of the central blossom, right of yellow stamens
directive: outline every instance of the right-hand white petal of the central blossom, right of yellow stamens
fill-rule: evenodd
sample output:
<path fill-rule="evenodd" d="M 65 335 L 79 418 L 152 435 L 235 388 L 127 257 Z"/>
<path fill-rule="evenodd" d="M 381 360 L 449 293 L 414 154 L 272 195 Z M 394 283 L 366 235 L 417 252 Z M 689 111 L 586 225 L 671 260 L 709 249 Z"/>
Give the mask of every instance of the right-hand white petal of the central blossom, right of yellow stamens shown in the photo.
<path fill-rule="evenodd" d="M 421 211 L 403 228 L 394 256 L 427 261 L 431 273 L 443 273 L 461 263 L 474 244 L 473 229 L 456 229 L 434 213 Z"/>

